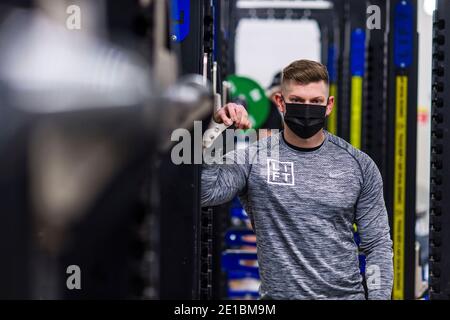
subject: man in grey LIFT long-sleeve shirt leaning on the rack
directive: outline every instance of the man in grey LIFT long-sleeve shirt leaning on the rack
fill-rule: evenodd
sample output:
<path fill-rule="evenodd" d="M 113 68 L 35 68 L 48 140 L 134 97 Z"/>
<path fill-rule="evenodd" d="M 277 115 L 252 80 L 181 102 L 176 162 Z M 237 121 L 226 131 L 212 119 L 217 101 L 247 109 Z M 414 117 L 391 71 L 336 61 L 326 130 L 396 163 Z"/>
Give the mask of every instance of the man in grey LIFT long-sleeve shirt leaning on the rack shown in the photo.
<path fill-rule="evenodd" d="M 243 200 L 256 233 L 263 298 L 365 299 L 356 223 L 370 273 L 368 298 L 390 299 L 393 253 L 383 182 L 369 156 L 323 129 L 334 104 L 328 81 L 320 63 L 286 67 L 276 97 L 285 130 L 227 154 L 232 164 L 204 165 L 202 205 L 235 195 Z M 249 127 L 245 109 L 235 104 L 214 120 Z M 278 148 L 278 156 L 236 161 L 252 157 L 251 148 Z"/>

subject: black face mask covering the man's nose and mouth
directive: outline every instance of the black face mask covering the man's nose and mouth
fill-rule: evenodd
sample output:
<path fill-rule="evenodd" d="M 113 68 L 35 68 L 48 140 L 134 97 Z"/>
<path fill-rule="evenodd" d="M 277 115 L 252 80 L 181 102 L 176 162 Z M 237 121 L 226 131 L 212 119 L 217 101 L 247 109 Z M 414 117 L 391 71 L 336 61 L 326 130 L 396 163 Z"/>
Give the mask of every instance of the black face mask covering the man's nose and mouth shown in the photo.
<path fill-rule="evenodd" d="M 284 122 L 297 136 L 308 139 L 325 127 L 327 106 L 286 103 Z"/>

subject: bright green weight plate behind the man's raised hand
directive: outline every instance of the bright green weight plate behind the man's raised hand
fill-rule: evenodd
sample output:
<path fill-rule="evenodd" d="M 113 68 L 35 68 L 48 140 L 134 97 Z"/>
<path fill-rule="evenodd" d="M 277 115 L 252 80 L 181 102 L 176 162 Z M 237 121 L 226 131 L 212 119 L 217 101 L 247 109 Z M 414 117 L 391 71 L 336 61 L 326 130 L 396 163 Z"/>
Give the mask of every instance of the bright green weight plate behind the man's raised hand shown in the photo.
<path fill-rule="evenodd" d="M 261 128 L 270 113 L 270 102 L 265 90 L 255 80 L 247 77 L 230 75 L 226 80 L 231 85 L 231 99 L 244 98 L 253 128 Z"/>

